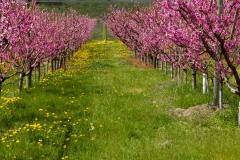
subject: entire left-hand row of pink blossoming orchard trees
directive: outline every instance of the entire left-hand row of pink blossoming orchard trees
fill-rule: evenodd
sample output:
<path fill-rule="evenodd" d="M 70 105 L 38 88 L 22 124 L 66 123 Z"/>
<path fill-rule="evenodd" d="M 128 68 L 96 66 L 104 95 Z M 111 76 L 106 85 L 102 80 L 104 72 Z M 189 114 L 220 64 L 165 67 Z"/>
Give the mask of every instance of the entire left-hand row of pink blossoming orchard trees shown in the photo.
<path fill-rule="evenodd" d="M 96 24 L 95 19 L 74 10 L 49 12 L 22 0 L 1 1 L 0 19 L 0 88 L 5 80 L 20 74 L 20 90 L 25 76 L 31 85 L 32 71 L 40 64 L 63 67 Z"/>

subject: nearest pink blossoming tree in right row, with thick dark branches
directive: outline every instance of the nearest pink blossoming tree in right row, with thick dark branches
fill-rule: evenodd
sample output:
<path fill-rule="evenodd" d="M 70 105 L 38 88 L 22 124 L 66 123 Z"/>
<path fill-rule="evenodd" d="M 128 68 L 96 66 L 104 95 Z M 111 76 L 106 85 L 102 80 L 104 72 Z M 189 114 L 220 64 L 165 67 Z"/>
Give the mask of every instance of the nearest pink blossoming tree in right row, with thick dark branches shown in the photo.
<path fill-rule="evenodd" d="M 217 2 L 221 1 L 165 0 L 157 3 L 165 10 L 162 14 L 164 21 L 169 22 L 169 19 L 173 19 L 172 15 L 179 19 L 179 21 L 171 21 L 166 29 L 167 33 L 174 37 L 174 43 L 183 43 L 187 48 L 188 57 L 191 60 L 197 59 L 194 64 L 204 66 L 207 68 L 205 72 L 220 81 L 220 84 L 214 81 L 214 104 L 219 104 L 222 108 L 223 82 L 232 93 L 240 95 L 240 79 L 237 71 L 240 3 L 238 0 L 226 0 L 223 5 Z"/>

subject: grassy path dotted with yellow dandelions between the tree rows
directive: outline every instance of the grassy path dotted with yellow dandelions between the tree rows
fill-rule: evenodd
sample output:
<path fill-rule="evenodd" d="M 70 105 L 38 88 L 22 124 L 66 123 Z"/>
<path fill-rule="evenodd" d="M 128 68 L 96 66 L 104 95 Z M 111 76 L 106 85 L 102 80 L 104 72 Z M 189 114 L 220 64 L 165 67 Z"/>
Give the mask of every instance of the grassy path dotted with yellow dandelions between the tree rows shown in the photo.
<path fill-rule="evenodd" d="M 48 75 L 20 98 L 2 100 L 0 159 L 240 157 L 239 129 L 220 123 L 227 115 L 185 122 L 167 111 L 208 103 L 209 96 L 134 65 L 131 54 L 119 42 L 89 42 L 70 71 Z"/>

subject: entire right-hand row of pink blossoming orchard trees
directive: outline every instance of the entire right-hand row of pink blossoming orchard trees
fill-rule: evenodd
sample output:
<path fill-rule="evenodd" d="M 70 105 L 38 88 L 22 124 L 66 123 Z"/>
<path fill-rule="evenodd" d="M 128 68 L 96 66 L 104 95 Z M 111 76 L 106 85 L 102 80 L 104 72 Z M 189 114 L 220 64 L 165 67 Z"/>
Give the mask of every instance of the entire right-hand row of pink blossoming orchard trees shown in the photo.
<path fill-rule="evenodd" d="M 216 97 L 222 84 L 240 95 L 239 10 L 240 0 L 163 0 L 111 8 L 106 24 L 136 55 L 215 77 Z"/>

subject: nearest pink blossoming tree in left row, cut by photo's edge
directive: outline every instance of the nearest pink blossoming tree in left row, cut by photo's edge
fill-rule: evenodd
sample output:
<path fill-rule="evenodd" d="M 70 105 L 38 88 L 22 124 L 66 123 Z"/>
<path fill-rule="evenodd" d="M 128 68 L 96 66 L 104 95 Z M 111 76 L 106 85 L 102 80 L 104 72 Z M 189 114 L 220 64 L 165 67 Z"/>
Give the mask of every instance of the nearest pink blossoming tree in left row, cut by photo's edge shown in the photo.
<path fill-rule="evenodd" d="M 22 39 L 28 36 L 32 15 L 27 9 L 26 2 L 23 1 L 1 1 L 0 9 L 0 84 L 2 85 L 6 79 L 21 71 L 19 62 L 24 55 L 18 51 L 24 48 L 19 48 L 18 45 L 24 43 Z"/>

